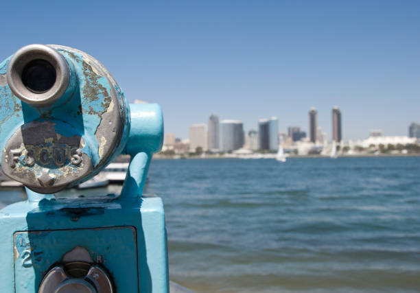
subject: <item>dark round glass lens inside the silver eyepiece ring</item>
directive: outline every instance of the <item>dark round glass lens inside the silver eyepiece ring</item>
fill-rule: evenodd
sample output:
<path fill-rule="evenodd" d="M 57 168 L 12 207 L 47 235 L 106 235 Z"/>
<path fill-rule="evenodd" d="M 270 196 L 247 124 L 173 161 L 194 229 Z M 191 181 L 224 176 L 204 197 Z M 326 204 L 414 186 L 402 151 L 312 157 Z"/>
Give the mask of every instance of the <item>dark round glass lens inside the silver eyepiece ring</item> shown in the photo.
<path fill-rule="evenodd" d="M 22 71 L 22 82 L 33 93 L 45 93 L 56 82 L 56 69 L 48 61 L 36 59 Z"/>

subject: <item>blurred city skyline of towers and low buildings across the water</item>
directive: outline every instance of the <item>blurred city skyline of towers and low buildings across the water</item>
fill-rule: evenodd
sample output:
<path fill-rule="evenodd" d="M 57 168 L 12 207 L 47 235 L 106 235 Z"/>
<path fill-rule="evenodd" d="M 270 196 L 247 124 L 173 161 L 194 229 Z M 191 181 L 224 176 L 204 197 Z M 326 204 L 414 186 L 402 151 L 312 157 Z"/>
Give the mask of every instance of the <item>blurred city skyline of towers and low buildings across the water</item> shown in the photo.
<path fill-rule="evenodd" d="M 257 121 L 258 130 L 244 131 L 240 120 L 222 119 L 219 123 L 217 114 L 212 113 L 206 124 L 193 124 L 189 128 L 189 139 L 174 139 L 174 134 L 165 134 L 163 152 L 168 154 L 183 154 L 185 150 L 192 156 L 207 154 L 257 155 L 266 152 L 283 151 L 294 152 L 297 155 L 323 155 L 332 152 L 334 145 L 342 149 L 340 154 L 354 155 L 364 152 L 390 152 L 392 154 L 407 154 L 417 150 L 420 139 L 420 124 L 412 123 L 408 126 L 408 136 L 387 136 L 380 129 L 371 129 L 366 139 L 344 141 L 342 139 L 342 114 L 340 108 L 331 109 L 331 140 L 327 132 L 317 125 L 316 108 L 310 108 L 308 122 L 310 136 L 300 127 L 289 126 L 288 132 L 279 132 L 277 117 L 263 118 Z M 208 127 L 208 131 L 207 131 Z M 221 135 L 220 135 L 221 134 Z M 213 139 L 210 139 L 210 138 Z M 213 141 L 211 141 L 213 140 Z M 220 148 L 215 141 L 220 141 Z M 417 144 L 417 146 L 416 146 Z M 213 145 L 213 147 L 211 147 Z M 404 150 L 404 146 L 406 149 Z M 409 149 L 409 150 L 408 150 Z M 332 154 L 332 153 L 331 153 Z"/>

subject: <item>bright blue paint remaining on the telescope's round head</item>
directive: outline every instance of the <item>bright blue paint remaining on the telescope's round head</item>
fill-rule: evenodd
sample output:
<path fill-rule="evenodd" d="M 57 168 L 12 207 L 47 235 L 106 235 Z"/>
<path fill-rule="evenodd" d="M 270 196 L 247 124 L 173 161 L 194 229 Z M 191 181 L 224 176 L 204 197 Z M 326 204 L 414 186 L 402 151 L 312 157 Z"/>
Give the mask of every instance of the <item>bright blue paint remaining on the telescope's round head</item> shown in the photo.
<path fill-rule="evenodd" d="M 73 136 L 74 134 L 82 136 L 91 148 L 94 165 L 97 165 L 100 161 L 100 156 L 99 146 L 95 139 L 95 132 L 101 121 L 100 115 L 106 111 L 103 102 L 104 93 L 99 93 L 96 96 L 84 95 L 83 89 L 87 86 L 88 82 L 92 82 L 89 75 L 86 77 L 86 74 L 91 74 L 92 72 L 86 72 L 86 69 L 83 68 L 83 66 L 86 65 L 86 61 L 83 60 L 82 54 L 70 51 L 69 49 L 58 49 L 58 51 L 65 56 L 67 63 L 71 68 L 71 78 L 67 91 L 56 104 L 45 108 L 36 108 L 21 102 L 20 99 L 12 94 L 8 85 L 0 86 L 0 95 L 2 97 L 0 102 L 0 143 L 1 145 L 4 145 L 4 141 L 10 139 L 14 130 L 24 122 L 27 123 L 33 120 L 43 121 L 44 119 L 62 121 L 66 125 L 63 124 L 62 127 L 56 127 L 56 132 L 62 136 Z M 9 60 L 10 58 L 0 65 L 1 72 L 7 70 Z M 98 86 L 98 84 L 103 86 L 105 89 L 104 92 L 108 93 L 108 95 L 111 88 L 114 90 L 115 88 L 118 88 L 118 86 L 110 84 L 106 77 L 97 78 L 95 86 Z M 121 91 L 117 91 L 117 93 L 121 93 Z M 79 99 L 77 97 L 72 97 L 69 100 L 71 95 L 79 96 L 83 115 L 78 115 Z M 119 95 L 119 97 L 120 99 L 125 99 L 124 95 Z M 66 104 L 66 106 L 63 107 L 63 104 Z M 20 109 L 16 110 L 16 108 Z M 93 114 L 93 112 L 96 114 Z M 23 115 L 23 113 L 25 115 Z M 82 116 L 82 121 L 79 124 L 75 124 L 73 121 L 76 121 L 78 116 Z M 76 132 L 74 132 L 74 128 L 76 129 Z M 124 130 L 125 133 L 127 133 L 127 130 Z"/>

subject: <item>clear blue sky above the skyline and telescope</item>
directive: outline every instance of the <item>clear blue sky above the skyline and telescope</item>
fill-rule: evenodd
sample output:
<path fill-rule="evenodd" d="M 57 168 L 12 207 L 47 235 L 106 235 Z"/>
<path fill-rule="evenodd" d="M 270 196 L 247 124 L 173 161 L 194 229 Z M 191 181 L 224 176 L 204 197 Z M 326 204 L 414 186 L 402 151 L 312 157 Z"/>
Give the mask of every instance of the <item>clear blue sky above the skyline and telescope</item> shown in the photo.
<path fill-rule="evenodd" d="M 30 43 L 86 51 L 129 101 L 161 104 L 177 137 L 211 113 L 307 130 L 312 106 L 329 137 L 335 105 L 345 139 L 420 122 L 420 1 L 45 2 L 2 2 L 0 57 Z"/>

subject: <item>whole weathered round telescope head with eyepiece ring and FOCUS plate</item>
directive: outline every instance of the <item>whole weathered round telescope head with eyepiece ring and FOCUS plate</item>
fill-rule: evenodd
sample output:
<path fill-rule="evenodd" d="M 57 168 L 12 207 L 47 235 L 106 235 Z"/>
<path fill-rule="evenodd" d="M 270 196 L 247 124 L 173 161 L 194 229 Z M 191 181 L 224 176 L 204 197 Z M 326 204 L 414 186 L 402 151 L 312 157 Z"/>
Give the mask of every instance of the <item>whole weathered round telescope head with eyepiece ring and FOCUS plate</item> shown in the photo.
<path fill-rule="evenodd" d="M 38 92 L 25 84 L 25 65 L 34 60 L 56 68 L 51 89 Z M 51 194 L 89 180 L 123 150 L 128 105 L 95 58 L 64 46 L 30 45 L 1 63 L 0 77 L 0 156 L 6 176 Z"/>

